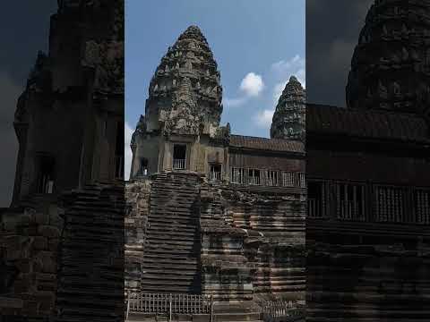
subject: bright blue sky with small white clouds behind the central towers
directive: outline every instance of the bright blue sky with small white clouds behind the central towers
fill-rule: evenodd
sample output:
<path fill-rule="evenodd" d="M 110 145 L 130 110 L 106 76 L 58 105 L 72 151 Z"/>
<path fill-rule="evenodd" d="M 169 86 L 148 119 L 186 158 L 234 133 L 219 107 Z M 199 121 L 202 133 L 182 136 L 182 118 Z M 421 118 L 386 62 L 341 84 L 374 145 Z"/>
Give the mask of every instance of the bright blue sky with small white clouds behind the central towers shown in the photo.
<path fill-rule="evenodd" d="M 221 123 L 236 134 L 268 137 L 286 81 L 291 74 L 305 81 L 305 0 L 125 0 L 126 137 L 144 114 L 161 57 L 192 24 L 219 66 Z"/>

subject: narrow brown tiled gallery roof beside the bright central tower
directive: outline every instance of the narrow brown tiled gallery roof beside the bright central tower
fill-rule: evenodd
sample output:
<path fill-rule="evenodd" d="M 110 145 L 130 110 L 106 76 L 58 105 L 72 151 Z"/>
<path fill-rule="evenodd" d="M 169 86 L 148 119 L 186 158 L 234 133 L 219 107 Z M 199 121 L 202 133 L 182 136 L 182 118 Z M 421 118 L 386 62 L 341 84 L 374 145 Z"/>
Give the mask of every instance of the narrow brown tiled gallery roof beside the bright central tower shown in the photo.
<path fill-rule="evenodd" d="M 243 135 L 231 135 L 230 147 L 251 148 L 266 151 L 305 152 L 305 145 L 300 141 L 257 138 Z"/>

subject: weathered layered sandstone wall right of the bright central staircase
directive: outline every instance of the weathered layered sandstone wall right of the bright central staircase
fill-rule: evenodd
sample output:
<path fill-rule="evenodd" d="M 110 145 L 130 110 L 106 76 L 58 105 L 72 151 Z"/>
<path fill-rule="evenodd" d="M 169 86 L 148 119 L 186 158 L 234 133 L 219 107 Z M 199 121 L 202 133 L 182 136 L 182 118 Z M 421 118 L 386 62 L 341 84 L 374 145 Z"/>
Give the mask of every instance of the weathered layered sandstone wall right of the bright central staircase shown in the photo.
<path fill-rule="evenodd" d="M 305 195 L 202 183 L 203 290 L 305 299 Z"/>

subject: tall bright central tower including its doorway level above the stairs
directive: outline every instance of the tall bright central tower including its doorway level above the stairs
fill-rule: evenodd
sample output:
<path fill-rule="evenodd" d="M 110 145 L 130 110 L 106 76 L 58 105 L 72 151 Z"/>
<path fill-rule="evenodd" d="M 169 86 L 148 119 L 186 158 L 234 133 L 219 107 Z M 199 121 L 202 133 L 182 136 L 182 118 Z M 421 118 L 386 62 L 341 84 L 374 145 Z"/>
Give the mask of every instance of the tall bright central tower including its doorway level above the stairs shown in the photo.
<path fill-rule="evenodd" d="M 202 31 L 191 26 L 168 47 L 150 80 L 145 115 L 132 138 L 131 177 L 204 172 L 199 145 L 222 132 L 221 100 L 218 65 Z"/>

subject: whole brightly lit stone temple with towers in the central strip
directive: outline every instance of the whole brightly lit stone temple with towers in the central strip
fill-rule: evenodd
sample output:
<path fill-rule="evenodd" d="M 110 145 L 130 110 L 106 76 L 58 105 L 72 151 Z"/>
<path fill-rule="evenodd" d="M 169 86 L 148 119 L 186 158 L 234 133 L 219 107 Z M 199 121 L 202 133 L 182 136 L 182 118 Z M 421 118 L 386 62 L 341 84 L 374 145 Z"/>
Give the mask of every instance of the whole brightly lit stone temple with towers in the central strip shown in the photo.
<path fill-rule="evenodd" d="M 271 139 L 221 126 L 221 101 L 211 48 L 191 26 L 161 58 L 133 133 L 125 292 L 211 295 L 219 314 L 236 305 L 245 319 L 264 301 L 299 309 L 305 90 L 289 80 Z"/>

